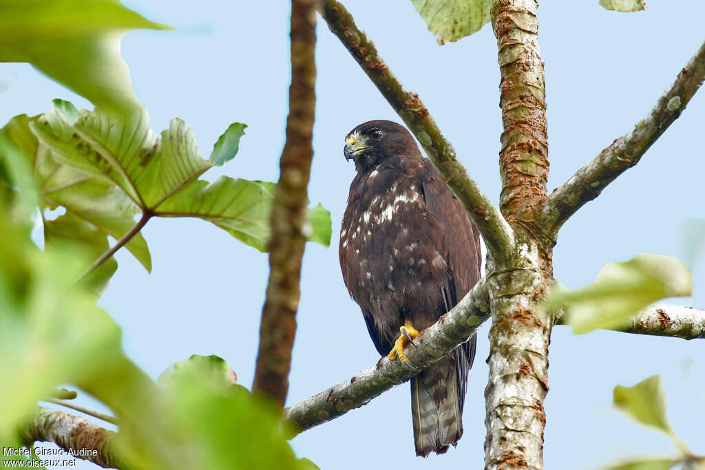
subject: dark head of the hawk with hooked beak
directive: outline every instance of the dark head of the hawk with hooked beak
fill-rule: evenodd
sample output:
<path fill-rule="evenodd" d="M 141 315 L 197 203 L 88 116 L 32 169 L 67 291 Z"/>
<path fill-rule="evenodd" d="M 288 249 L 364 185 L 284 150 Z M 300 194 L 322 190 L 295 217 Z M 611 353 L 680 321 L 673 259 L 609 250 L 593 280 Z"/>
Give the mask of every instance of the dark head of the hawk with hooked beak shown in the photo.
<path fill-rule="evenodd" d="M 391 120 L 368 120 L 345 136 L 343 154 L 355 161 L 357 171 L 366 171 L 391 156 L 417 156 L 414 137 L 403 125 Z"/>

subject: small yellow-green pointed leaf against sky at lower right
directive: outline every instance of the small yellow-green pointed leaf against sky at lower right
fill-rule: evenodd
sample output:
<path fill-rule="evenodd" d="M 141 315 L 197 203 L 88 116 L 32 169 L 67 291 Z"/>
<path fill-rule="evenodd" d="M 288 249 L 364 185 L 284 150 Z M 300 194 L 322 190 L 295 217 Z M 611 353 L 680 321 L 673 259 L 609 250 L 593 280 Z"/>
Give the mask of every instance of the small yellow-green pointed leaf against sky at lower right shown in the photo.
<path fill-rule="evenodd" d="M 661 391 L 661 376 L 651 376 L 633 387 L 617 385 L 614 390 L 614 404 L 639 423 L 653 426 L 670 435 L 666 403 Z"/>

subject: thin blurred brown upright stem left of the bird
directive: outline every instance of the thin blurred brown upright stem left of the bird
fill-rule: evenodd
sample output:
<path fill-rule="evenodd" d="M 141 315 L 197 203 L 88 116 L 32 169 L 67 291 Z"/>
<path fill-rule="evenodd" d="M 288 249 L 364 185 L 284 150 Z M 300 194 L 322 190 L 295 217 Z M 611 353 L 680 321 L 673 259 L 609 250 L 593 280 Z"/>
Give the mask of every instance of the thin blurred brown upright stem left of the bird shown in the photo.
<path fill-rule="evenodd" d="M 284 406 L 301 295 L 301 259 L 306 243 L 307 186 L 313 156 L 316 97 L 316 0 L 291 2 L 291 86 L 286 144 L 274 194 L 269 241 L 269 284 L 259 328 L 252 389 Z"/>

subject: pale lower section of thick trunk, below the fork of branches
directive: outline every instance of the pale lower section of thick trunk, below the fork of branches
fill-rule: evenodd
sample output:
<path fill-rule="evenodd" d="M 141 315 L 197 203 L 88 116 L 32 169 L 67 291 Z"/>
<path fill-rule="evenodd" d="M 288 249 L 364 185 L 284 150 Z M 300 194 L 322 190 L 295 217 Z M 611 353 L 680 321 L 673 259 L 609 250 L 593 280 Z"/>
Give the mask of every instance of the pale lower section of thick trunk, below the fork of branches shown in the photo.
<path fill-rule="evenodd" d="M 510 267 L 510 268 L 508 268 Z M 487 266 L 492 328 L 485 389 L 486 469 L 542 469 L 551 318 L 539 303 L 550 263 L 520 243 L 510 266 Z"/>

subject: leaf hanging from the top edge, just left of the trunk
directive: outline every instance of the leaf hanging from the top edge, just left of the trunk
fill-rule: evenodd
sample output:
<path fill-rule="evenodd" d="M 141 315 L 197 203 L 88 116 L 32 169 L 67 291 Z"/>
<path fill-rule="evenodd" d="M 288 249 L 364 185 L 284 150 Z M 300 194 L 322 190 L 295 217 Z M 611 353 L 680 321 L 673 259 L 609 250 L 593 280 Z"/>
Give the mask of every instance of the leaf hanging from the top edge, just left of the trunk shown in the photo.
<path fill-rule="evenodd" d="M 439 44 L 470 36 L 489 23 L 492 0 L 411 0 Z"/>

